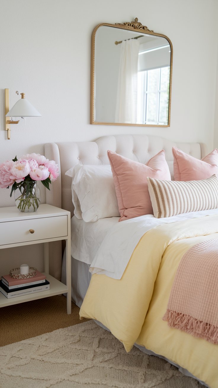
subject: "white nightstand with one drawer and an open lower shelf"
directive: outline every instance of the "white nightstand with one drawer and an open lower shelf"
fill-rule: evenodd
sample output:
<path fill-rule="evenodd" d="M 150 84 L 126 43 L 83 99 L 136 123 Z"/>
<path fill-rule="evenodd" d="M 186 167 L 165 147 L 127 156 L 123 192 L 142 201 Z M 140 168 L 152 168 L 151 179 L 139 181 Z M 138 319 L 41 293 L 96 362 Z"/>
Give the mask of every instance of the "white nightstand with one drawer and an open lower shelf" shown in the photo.
<path fill-rule="evenodd" d="M 66 285 L 49 275 L 49 242 L 58 240 L 66 240 Z M 20 213 L 16 206 L 0 208 L 0 249 L 42 242 L 50 289 L 9 299 L 0 293 L 0 307 L 66 293 L 71 314 L 70 212 L 48 204 L 41 204 L 35 213 Z"/>

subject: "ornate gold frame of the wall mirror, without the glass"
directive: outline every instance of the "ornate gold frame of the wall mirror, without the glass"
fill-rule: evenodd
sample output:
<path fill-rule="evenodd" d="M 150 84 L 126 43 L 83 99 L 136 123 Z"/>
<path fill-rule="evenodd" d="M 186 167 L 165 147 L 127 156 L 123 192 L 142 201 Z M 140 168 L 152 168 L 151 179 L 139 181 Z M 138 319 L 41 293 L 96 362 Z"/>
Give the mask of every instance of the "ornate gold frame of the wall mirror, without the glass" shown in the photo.
<path fill-rule="evenodd" d="M 170 57 L 170 79 L 169 79 L 169 109 L 168 109 L 168 124 L 167 125 L 158 125 L 158 124 L 130 124 L 130 123 L 105 123 L 94 121 L 94 49 L 95 49 L 95 35 L 96 31 L 101 26 L 109 26 L 115 28 L 126 29 L 129 31 L 140 31 L 141 33 L 146 33 L 149 35 L 160 36 L 165 38 L 171 47 L 171 57 Z M 173 71 L 173 45 L 171 40 L 163 34 L 159 34 L 153 32 L 153 30 L 148 29 L 147 26 L 143 26 L 140 22 L 138 22 L 138 18 L 136 17 L 132 22 L 125 23 L 101 23 L 96 26 L 94 31 L 92 32 L 92 40 L 91 40 L 91 107 L 90 107 L 90 124 L 101 124 L 101 125 L 136 125 L 136 126 L 157 126 L 157 127 L 167 127 L 170 126 L 170 110 L 171 110 L 171 85 L 172 85 L 172 71 Z"/>

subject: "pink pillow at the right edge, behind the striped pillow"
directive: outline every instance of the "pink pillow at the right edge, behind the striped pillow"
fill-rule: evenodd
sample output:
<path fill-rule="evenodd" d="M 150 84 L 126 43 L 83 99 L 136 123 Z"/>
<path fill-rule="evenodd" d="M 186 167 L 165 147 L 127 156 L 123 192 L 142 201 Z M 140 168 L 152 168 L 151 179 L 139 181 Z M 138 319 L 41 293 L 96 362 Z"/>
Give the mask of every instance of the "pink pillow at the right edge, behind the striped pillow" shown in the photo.
<path fill-rule="evenodd" d="M 201 180 L 216 174 L 218 177 L 218 149 L 215 148 L 203 159 L 196 159 L 173 147 L 174 180 Z"/>

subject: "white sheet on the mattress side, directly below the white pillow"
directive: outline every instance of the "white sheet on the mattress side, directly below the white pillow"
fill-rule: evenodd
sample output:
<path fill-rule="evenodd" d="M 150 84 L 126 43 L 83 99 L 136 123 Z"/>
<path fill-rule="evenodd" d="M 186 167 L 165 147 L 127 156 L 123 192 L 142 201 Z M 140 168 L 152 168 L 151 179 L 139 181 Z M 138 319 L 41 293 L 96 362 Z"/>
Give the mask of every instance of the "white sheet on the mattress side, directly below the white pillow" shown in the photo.
<path fill-rule="evenodd" d="M 107 232 L 119 222 L 120 217 L 101 218 L 84 222 L 75 215 L 71 218 L 71 256 L 91 264 Z"/>

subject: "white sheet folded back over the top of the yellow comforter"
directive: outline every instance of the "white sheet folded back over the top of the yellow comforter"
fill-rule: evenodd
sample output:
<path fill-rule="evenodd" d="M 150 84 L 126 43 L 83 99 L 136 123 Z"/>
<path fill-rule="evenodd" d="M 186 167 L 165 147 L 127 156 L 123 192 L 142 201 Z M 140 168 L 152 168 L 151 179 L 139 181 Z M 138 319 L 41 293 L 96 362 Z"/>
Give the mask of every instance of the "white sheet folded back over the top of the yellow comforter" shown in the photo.
<path fill-rule="evenodd" d="M 148 230 L 164 223 L 213 214 L 218 214 L 218 209 L 184 213 L 169 218 L 144 215 L 115 223 L 101 242 L 89 271 L 92 274 L 105 274 L 113 279 L 121 279 L 134 248 Z"/>

